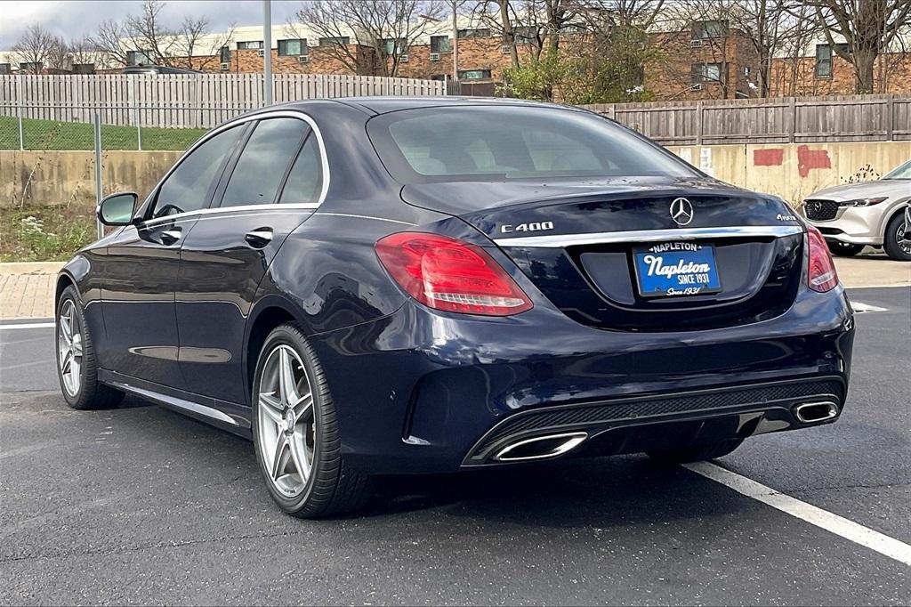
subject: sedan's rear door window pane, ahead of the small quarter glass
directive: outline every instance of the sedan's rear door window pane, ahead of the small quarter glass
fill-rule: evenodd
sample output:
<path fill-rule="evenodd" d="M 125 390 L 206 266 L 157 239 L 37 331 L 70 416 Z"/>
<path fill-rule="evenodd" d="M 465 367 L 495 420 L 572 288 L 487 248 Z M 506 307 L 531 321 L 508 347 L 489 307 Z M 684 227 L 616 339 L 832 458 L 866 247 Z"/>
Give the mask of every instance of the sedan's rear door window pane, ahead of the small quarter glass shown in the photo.
<path fill-rule="evenodd" d="M 297 118 L 261 120 L 253 131 L 221 199 L 222 207 L 271 204 L 309 127 Z"/>

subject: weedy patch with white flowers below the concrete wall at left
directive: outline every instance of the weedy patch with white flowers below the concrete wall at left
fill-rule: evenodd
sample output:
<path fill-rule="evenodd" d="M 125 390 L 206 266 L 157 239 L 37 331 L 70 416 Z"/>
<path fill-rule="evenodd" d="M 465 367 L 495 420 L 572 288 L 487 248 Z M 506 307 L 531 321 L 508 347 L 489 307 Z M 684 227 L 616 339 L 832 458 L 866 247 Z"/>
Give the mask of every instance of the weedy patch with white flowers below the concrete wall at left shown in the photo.
<path fill-rule="evenodd" d="M 0 212 L 0 261 L 58 262 L 95 241 L 91 208 L 26 206 Z"/>

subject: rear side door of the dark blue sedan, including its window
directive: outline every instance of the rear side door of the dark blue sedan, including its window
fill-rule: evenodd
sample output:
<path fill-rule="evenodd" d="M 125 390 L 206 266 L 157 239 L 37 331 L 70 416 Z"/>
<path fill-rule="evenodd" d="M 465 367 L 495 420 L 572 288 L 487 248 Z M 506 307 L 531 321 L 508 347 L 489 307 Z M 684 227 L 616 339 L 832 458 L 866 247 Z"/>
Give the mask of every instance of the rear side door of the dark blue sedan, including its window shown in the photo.
<path fill-rule="evenodd" d="M 225 170 L 212 209 L 184 240 L 177 292 L 188 390 L 245 405 L 243 340 L 281 243 L 322 198 L 322 146 L 301 118 L 262 118 Z"/>

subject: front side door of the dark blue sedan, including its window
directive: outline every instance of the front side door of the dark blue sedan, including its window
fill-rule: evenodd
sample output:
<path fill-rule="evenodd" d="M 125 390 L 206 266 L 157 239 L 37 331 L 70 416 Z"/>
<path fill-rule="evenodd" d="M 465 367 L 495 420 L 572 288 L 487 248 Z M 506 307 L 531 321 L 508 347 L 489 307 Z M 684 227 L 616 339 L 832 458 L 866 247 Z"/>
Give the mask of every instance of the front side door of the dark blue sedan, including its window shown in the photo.
<path fill-rule="evenodd" d="M 192 149 L 149 196 L 138 221 L 107 247 L 100 268 L 105 368 L 183 388 L 174 305 L 180 245 L 210 204 L 242 130 L 220 131 Z"/>

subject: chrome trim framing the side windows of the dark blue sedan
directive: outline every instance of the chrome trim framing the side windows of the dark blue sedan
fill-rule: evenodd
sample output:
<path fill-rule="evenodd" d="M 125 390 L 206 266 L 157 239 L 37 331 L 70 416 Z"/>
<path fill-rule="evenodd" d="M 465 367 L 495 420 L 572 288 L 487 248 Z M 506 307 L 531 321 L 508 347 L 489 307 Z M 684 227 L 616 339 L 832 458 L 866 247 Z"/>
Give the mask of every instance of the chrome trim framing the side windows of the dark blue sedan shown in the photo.
<path fill-rule="evenodd" d="M 322 189 L 320 190 L 319 200 L 317 200 L 316 202 L 292 203 L 292 204 L 281 204 L 281 202 L 279 202 L 276 204 L 268 204 L 268 205 L 266 205 L 266 204 L 247 204 L 247 205 L 242 205 L 242 206 L 237 206 L 237 207 L 224 207 L 224 208 L 208 207 L 206 209 L 198 209 L 196 211 L 186 211 L 186 212 L 182 212 L 182 213 L 174 213 L 173 215 L 166 215 L 163 217 L 154 217 L 152 219 L 142 221 L 141 222 L 142 225 L 150 225 L 150 224 L 157 223 L 159 221 L 182 219 L 184 217 L 191 217 L 193 215 L 201 215 L 201 214 L 207 214 L 207 213 L 218 212 L 218 211 L 229 211 L 229 210 L 249 211 L 251 209 L 262 210 L 265 208 L 274 209 L 274 208 L 278 208 L 279 206 L 281 206 L 282 209 L 318 209 L 320 207 L 320 205 L 322 205 L 322 202 L 326 200 L 326 194 L 329 192 L 329 181 L 331 178 L 330 172 L 329 172 L 329 157 L 326 154 L 326 144 L 322 139 L 322 131 L 320 130 L 319 125 L 316 124 L 316 121 L 313 120 L 313 118 L 311 118 L 309 115 L 304 114 L 302 111 L 291 110 L 291 109 L 275 109 L 275 110 L 271 110 L 268 112 L 262 112 L 261 114 L 253 114 L 251 116 L 242 116 L 241 118 L 234 118 L 230 122 L 226 122 L 226 123 L 216 127 L 215 129 L 211 129 L 208 133 L 206 133 L 205 135 L 200 137 L 200 139 L 198 139 L 192 146 L 190 146 L 189 149 L 187 149 L 187 151 L 185 151 L 183 153 L 183 155 L 180 156 L 178 161 L 174 163 L 174 166 L 172 166 L 168 170 L 168 172 L 164 174 L 164 177 L 162 177 L 159 180 L 159 182 L 155 184 L 155 187 L 152 188 L 152 193 L 148 195 L 148 198 L 142 203 L 142 205 L 139 208 L 144 209 L 146 207 L 151 196 L 159 190 L 159 188 L 161 187 L 161 184 L 164 183 L 166 180 L 168 180 L 168 178 L 171 176 L 171 173 L 173 173 L 174 170 L 176 170 L 180 166 L 180 164 L 184 161 L 184 159 L 186 159 L 190 154 L 192 154 L 203 143 L 205 143 L 209 139 L 215 137 L 222 131 L 225 131 L 228 129 L 233 129 L 234 127 L 237 127 L 237 126 L 247 123 L 247 122 L 251 122 L 252 120 L 264 120 L 264 119 L 268 119 L 268 118 L 298 118 L 299 120 L 303 120 L 308 125 L 310 125 L 310 128 L 313 131 L 313 134 L 316 135 L 316 141 L 320 145 L 320 168 L 322 169 L 323 179 L 322 179 Z M 241 150 L 241 153 L 242 153 L 242 151 L 243 150 Z"/>

